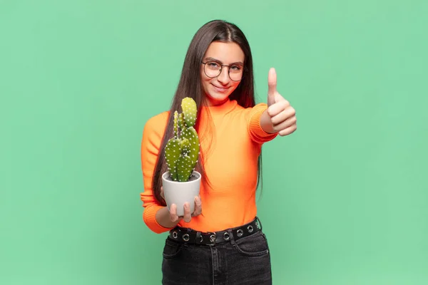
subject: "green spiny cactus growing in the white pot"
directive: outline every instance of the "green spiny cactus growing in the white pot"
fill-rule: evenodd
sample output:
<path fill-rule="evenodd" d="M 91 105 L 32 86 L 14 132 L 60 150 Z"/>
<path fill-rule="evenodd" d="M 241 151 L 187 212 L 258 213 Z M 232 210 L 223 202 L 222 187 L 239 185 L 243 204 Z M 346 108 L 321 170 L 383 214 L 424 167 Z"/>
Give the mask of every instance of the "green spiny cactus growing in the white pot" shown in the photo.
<path fill-rule="evenodd" d="M 199 156 L 199 137 L 193 126 L 196 122 L 196 103 L 192 98 L 181 100 L 183 113 L 174 112 L 174 137 L 165 146 L 165 158 L 174 181 L 190 179 Z"/>

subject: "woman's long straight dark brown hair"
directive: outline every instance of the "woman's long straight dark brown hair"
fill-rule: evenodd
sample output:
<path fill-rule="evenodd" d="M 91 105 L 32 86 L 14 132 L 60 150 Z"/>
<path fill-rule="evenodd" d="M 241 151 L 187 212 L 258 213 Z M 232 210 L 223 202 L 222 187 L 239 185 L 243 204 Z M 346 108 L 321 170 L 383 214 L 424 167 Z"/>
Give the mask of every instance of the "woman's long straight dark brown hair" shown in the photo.
<path fill-rule="evenodd" d="M 213 41 L 222 42 L 234 42 L 237 43 L 245 54 L 244 59 L 244 71 L 243 79 L 241 80 L 238 87 L 230 94 L 230 100 L 236 100 L 239 105 L 244 108 L 253 107 L 255 105 L 254 97 L 254 78 L 253 78 L 253 57 L 251 55 L 250 45 L 248 44 L 247 38 L 243 31 L 238 28 L 235 24 L 231 24 L 227 21 L 213 20 L 209 21 L 205 25 L 199 28 L 199 30 L 193 36 L 192 41 L 188 47 L 188 51 L 185 56 L 183 63 L 183 69 L 181 71 L 180 82 L 178 83 L 177 90 L 170 107 L 170 113 L 168 117 L 168 123 L 165 128 L 165 134 L 161 142 L 160 152 L 156 167 L 153 172 L 152 189 L 155 198 L 160 204 L 164 206 L 165 201 L 161 197 L 161 186 L 162 186 L 162 175 L 167 171 L 168 167 L 165 162 L 165 154 L 163 150 L 165 145 L 170 138 L 173 137 L 173 113 L 175 110 L 180 112 L 181 100 L 185 97 L 191 97 L 195 100 L 198 105 L 198 118 L 196 119 L 195 129 L 199 130 L 200 122 L 200 110 L 205 105 L 205 94 L 200 79 L 200 65 L 205 56 L 205 51 Z M 262 158 L 261 153 L 258 159 L 258 183 L 261 182 L 261 164 Z M 208 177 L 205 175 L 205 169 L 203 167 L 203 150 L 200 149 L 200 157 L 195 170 L 200 172 L 205 182 L 209 183 Z"/>

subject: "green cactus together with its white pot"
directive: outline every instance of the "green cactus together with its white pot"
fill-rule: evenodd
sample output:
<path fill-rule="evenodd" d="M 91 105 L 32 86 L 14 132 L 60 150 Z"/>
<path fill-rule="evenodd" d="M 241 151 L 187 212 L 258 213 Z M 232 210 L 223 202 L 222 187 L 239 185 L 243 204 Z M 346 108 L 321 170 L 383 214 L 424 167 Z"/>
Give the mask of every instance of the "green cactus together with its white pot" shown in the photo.
<path fill-rule="evenodd" d="M 199 157 L 199 137 L 194 125 L 196 103 L 192 98 L 181 100 L 183 113 L 174 112 L 174 135 L 165 146 L 165 160 L 168 171 L 162 175 L 163 195 L 170 209 L 177 205 L 177 215 L 183 216 L 184 204 L 189 202 L 190 212 L 195 210 L 194 198 L 199 195 L 200 173 L 195 171 Z"/>

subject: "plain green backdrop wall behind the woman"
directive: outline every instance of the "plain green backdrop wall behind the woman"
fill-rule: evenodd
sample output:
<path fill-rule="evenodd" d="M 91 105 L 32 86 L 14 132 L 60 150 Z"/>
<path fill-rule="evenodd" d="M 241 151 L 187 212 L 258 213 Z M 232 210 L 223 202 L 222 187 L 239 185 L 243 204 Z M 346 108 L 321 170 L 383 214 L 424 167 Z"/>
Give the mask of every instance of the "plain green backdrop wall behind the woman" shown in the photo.
<path fill-rule="evenodd" d="M 140 143 L 211 19 L 297 110 L 263 147 L 274 284 L 428 284 L 427 1 L 0 1 L 0 284 L 160 284 Z"/>

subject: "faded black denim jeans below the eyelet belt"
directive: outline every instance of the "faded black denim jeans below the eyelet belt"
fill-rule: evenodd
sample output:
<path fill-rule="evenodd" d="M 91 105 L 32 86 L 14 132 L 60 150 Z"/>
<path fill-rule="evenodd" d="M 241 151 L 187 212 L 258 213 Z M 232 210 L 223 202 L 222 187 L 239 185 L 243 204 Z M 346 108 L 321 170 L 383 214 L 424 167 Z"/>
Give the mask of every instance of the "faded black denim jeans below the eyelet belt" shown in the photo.
<path fill-rule="evenodd" d="M 162 273 L 164 285 L 272 284 L 269 247 L 261 230 L 215 245 L 185 244 L 168 237 Z"/>

